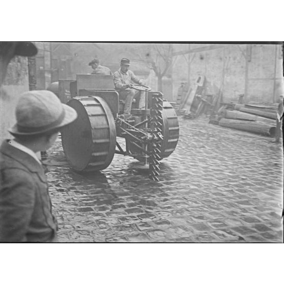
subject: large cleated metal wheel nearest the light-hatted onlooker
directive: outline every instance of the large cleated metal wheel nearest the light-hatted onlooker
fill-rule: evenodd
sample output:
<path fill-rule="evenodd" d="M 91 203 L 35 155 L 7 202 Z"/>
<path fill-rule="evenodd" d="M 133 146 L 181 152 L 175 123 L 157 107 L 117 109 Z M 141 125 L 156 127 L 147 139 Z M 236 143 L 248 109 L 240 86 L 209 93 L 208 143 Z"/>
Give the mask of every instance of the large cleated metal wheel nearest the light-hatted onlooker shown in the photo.
<path fill-rule="evenodd" d="M 104 99 L 75 97 L 68 101 L 78 118 L 61 132 L 67 160 L 76 171 L 108 167 L 116 150 L 116 125 Z"/>

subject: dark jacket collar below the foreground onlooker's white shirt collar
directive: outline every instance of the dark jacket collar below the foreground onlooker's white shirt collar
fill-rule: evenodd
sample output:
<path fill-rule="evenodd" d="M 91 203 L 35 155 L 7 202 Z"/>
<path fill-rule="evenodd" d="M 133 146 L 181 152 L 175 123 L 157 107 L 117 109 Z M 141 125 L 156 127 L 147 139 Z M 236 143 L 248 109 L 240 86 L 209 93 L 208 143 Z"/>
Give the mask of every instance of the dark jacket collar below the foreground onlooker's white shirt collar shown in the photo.
<path fill-rule="evenodd" d="M 44 175 L 43 166 L 40 165 L 31 155 L 15 148 L 9 144 L 9 140 L 4 140 L 0 152 L 18 161 L 23 166 L 27 167 L 29 171 Z"/>

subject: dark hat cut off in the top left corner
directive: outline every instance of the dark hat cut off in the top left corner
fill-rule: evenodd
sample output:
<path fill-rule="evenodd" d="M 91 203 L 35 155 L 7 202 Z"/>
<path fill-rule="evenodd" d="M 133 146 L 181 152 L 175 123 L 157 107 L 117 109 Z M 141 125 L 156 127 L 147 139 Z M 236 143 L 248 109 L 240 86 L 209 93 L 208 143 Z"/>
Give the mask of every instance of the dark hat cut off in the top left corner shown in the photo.
<path fill-rule="evenodd" d="M 37 47 L 30 41 L 1 41 L 0 54 L 14 48 L 14 55 L 34 56 L 38 53 Z"/>

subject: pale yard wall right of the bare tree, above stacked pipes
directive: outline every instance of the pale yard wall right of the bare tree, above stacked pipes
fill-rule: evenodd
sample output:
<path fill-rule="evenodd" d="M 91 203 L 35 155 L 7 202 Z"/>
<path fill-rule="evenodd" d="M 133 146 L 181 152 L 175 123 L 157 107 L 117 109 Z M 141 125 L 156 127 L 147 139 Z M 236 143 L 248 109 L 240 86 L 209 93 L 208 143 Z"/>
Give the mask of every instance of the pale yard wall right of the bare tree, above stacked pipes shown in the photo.
<path fill-rule="evenodd" d="M 206 45 L 192 44 L 191 48 Z M 221 45 L 220 45 L 221 46 Z M 183 45 L 180 50 L 185 50 Z M 245 54 L 250 54 L 246 62 Z M 188 73 L 188 57 L 190 72 Z M 174 65 L 174 96 L 180 82 L 187 81 L 192 86 L 198 75 L 217 89 L 221 89 L 224 102 L 237 102 L 240 94 L 245 94 L 245 102 L 276 102 L 283 93 L 282 51 L 280 45 L 231 45 L 209 51 L 179 55 Z"/>

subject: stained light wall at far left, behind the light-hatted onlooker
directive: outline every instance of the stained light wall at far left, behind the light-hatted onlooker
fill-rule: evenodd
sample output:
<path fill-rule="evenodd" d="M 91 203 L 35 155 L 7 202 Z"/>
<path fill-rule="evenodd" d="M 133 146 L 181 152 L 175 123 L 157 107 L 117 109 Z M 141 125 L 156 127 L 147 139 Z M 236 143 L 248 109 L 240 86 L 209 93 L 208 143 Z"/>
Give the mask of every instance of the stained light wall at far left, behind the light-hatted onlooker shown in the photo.
<path fill-rule="evenodd" d="M 29 90 L 27 58 L 16 56 L 9 64 L 0 96 L 0 139 L 11 137 L 8 128 L 16 122 L 15 107 L 19 95 Z"/>

